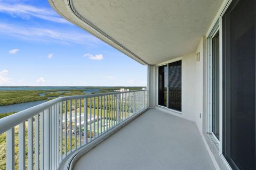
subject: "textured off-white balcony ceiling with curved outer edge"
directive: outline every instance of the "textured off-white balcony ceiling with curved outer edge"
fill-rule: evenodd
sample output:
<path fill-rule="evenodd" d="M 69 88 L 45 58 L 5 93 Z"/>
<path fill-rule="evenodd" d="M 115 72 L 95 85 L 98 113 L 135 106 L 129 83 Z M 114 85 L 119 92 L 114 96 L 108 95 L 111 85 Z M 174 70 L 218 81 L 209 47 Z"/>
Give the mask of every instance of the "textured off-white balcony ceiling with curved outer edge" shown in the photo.
<path fill-rule="evenodd" d="M 142 64 L 193 52 L 223 0 L 49 0 L 64 18 Z"/>

